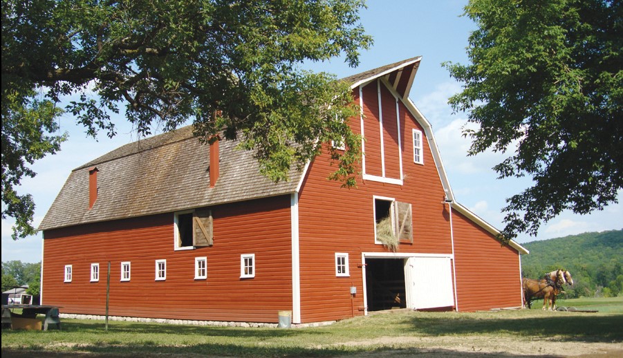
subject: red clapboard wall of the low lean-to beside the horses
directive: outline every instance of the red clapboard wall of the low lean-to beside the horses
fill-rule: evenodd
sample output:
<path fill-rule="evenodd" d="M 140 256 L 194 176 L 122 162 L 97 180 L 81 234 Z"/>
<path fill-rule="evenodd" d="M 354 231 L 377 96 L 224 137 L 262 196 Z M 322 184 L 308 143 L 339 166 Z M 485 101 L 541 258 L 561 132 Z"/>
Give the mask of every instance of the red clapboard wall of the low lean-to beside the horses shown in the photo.
<path fill-rule="evenodd" d="M 519 253 L 452 212 L 458 310 L 521 306 Z"/>

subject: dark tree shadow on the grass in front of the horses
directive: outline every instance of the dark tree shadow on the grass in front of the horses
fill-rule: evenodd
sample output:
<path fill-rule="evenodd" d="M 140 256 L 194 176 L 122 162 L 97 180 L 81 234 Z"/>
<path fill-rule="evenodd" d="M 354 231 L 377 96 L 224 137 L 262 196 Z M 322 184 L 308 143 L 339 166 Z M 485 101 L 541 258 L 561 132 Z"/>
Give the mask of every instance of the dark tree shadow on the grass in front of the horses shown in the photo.
<path fill-rule="evenodd" d="M 523 337 L 552 337 L 557 341 L 623 342 L 623 314 L 611 316 L 573 315 L 515 319 L 478 319 L 461 317 L 441 320 L 411 317 L 407 330 L 411 334 L 494 335 L 506 333 Z"/>

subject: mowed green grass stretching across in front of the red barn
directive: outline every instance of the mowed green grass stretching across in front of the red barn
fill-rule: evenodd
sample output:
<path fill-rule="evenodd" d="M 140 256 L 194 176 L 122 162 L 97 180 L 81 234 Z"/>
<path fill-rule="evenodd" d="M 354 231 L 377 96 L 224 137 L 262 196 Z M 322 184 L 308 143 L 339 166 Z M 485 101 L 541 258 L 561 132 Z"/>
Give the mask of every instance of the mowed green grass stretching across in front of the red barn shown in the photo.
<path fill-rule="evenodd" d="M 561 300 L 562 301 L 562 300 Z M 568 342 L 623 342 L 623 299 L 566 300 L 596 313 L 542 310 L 412 312 L 355 317 L 317 328 L 227 328 L 64 319 L 62 331 L 2 330 L 2 354 L 91 352 L 102 355 L 218 355 L 300 357 L 357 355 L 413 348 L 413 340 L 382 343 L 382 337 L 534 337 Z M 559 302 L 563 305 L 563 302 Z M 378 343 L 376 343 L 378 342 Z"/>

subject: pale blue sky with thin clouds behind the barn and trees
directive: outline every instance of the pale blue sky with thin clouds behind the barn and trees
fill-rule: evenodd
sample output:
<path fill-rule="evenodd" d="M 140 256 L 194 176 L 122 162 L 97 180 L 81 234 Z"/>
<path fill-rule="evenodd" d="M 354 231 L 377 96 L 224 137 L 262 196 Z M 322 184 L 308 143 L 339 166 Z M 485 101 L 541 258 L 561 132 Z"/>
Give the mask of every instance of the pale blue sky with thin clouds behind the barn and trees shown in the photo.
<path fill-rule="evenodd" d="M 349 68 L 342 59 L 333 59 L 322 64 L 306 64 L 306 68 L 346 77 L 421 55 L 422 62 L 410 97 L 433 125 L 438 149 L 456 200 L 501 229 L 501 208 L 505 206 L 505 198 L 528 187 L 530 180 L 497 180 L 491 168 L 503 160 L 504 157 L 500 154 L 487 152 L 476 157 L 467 157 L 469 140 L 461 135 L 467 115 L 452 114 L 452 109 L 447 105 L 448 97 L 460 91 L 461 84 L 456 83 L 440 64 L 446 61 L 463 64 L 467 62 L 467 37 L 475 28 L 469 19 L 460 17 L 465 3 L 467 1 L 463 0 L 368 1 L 368 9 L 362 11 L 361 17 L 366 32 L 374 38 L 374 46 L 362 52 L 360 66 Z M 100 135 L 97 142 L 86 138 L 84 129 L 74 123 L 75 120 L 70 114 L 62 116 L 60 126 L 62 131 L 68 131 L 69 140 L 55 156 L 35 162 L 35 178 L 22 181 L 20 190 L 35 198 L 35 225 L 41 222 L 72 169 L 137 139 L 123 117 L 115 122 L 118 125 L 118 135 L 115 138 L 111 140 Z M 41 234 L 13 241 L 10 237 L 12 223 L 13 220 L 10 219 L 2 220 L 2 261 L 40 261 Z M 618 204 L 587 216 L 565 212 L 542 225 L 536 238 L 519 236 L 517 241 L 525 243 L 622 227 L 623 205 Z"/>

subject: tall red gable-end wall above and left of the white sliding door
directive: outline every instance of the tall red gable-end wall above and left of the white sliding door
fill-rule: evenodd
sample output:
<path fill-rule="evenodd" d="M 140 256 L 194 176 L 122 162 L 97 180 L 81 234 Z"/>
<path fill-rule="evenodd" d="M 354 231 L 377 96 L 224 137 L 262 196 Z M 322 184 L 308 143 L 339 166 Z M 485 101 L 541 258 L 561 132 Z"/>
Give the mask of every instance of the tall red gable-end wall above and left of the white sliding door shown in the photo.
<path fill-rule="evenodd" d="M 362 88 L 366 173 L 382 176 L 378 84 Z M 444 190 L 424 138 L 424 165 L 413 162 L 412 129 L 423 129 L 381 84 L 386 177 L 400 178 L 398 135 L 402 153 L 404 185 L 359 180 L 356 189 L 344 189 L 326 180 L 335 171 L 328 156 L 316 158 L 308 169 L 299 195 L 299 240 L 301 259 L 301 320 L 343 319 L 364 314 L 362 252 L 388 252 L 374 243 L 373 196 L 394 198 L 413 205 L 413 243 L 401 243 L 398 253 L 451 254 L 449 216 L 442 204 Z M 355 88 L 355 102 L 359 102 Z M 377 111 L 377 112 L 375 112 Z M 360 118 L 351 122 L 360 133 Z M 397 133 L 398 125 L 401 133 Z M 396 154 L 393 153 L 396 151 Z M 335 274 L 335 253 L 348 253 L 350 276 Z M 351 296 L 350 288 L 357 290 Z"/>

